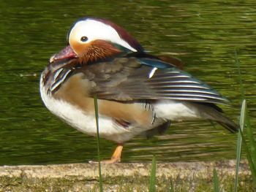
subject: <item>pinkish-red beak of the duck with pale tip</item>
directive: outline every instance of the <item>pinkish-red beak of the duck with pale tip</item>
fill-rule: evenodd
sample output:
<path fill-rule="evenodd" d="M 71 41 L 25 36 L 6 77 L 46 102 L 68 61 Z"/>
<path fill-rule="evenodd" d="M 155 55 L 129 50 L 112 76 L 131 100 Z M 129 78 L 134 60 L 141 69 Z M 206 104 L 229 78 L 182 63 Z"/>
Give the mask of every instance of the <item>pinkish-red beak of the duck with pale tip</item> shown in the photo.
<path fill-rule="evenodd" d="M 63 50 L 61 50 L 59 53 L 56 53 L 50 57 L 50 63 L 61 61 L 61 60 L 67 60 L 72 58 L 77 58 L 78 55 L 74 52 L 72 47 L 68 45 Z"/>

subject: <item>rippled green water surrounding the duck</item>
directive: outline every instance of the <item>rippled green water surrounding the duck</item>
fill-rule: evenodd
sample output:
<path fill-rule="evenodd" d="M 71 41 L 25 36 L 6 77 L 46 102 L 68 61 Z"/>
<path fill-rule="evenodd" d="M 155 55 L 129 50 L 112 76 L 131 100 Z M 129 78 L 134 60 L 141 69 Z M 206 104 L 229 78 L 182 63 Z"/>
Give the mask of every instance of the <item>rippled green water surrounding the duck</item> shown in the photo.
<path fill-rule="evenodd" d="M 244 3 L 243 3 L 244 2 Z M 66 45 L 72 23 L 108 18 L 146 50 L 174 55 L 187 72 L 227 96 L 237 121 L 241 102 L 235 50 L 241 61 L 252 125 L 256 125 L 256 1 L 0 1 L 0 164 L 57 164 L 97 159 L 97 139 L 61 122 L 42 104 L 39 75 Z M 255 126 L 254 126 L 255 127 Z M 102 139 L 109 158 L 113 142 Z M 235 158 L 236 134 L 208 121 L 173 123 L 153 139 L 124 146 L 123 161 Z"/>

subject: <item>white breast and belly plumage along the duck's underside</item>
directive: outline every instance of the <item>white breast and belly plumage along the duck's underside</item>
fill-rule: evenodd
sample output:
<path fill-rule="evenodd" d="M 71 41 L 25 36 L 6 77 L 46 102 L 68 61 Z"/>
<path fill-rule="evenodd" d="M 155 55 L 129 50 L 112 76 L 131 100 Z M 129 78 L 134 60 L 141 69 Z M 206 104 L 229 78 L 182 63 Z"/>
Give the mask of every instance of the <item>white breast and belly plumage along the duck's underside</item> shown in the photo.
<path fill-rule="evenodd" d="M 97 135 L 95 116 L 84 113 L 78 107 L 69 104 L 67 101 L 54 99 L 53 96 L 48 95 L 45 87 L 42 86 L 42 77 L 40 82 L 40 93 L 45 106 L 54 115 L 58 116 L 69 123 L 69 125 L 77 128 L 83 133 L 92 136 Z M 118 123 L 116 123 L 112 118 L 102 117 L 99 115 L 99 137 L 115 142 L 126 142 L 144 130 L 145 128 L 143 129 L 137 126 L 124 128 L 123 126 L 118 125 Z"/>

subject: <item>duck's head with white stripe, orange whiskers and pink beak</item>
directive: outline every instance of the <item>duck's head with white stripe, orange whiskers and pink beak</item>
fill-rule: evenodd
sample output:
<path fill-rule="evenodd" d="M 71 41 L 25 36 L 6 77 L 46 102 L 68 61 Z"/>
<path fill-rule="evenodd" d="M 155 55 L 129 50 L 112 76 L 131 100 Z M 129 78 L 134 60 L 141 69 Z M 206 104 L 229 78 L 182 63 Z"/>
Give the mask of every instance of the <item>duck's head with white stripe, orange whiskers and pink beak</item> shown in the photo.
<path fill-rule="evenodd" d="M 124 28 L 109 20 L 81 18 L 67 34 L 68 45 L 50 58 L 55 61 L 78 58 L 87 63 L 120 53 L 143 52 L 143 47 Z"/>

